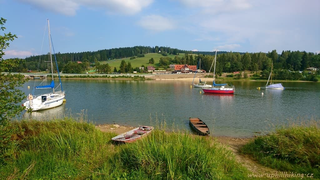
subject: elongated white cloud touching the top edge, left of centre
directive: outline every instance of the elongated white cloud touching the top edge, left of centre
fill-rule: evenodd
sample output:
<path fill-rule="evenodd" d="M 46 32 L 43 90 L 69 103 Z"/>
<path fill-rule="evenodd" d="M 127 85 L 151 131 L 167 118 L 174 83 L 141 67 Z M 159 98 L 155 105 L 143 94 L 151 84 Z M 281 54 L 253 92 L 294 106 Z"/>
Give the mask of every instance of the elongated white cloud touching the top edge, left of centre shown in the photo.
<path fill-rule="evenodd" d="M 102 9 L 111 13 L 135 14 L 150 5 L 153 0 L 20 0 L 39 9 L 67 16 L 76 15 L 80 7 Z"/>

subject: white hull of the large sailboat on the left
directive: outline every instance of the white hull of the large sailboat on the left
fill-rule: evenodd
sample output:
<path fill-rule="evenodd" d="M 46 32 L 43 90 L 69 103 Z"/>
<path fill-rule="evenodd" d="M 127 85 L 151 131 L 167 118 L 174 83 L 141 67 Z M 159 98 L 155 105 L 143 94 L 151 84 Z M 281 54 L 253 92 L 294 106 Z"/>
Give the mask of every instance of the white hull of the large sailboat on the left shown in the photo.
<path fill-rule="evenodd" d="M 64 101 L 64 97 L 64 92 L 61 92 L 61 94 L 42 94 L 32 100 L 27 100 L 23 103 L 23 106 L 32 111 L 50 109 L 60 106 Z"/>

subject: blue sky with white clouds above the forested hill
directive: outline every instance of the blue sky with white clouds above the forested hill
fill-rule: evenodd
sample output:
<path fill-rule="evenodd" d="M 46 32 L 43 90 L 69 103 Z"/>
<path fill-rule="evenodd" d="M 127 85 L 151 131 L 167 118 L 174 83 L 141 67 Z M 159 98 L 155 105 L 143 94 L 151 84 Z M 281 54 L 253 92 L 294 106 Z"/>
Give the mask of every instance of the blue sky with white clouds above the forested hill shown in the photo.
<path fill-rule="evenodd" d="M 0 0 L 7 19 L 0 33 L 18 36 L 3 58 L 40 54 L 47 18 L 56 53 L 135 45 L 320 53 L 319 7 L 319 0 Z"/>

